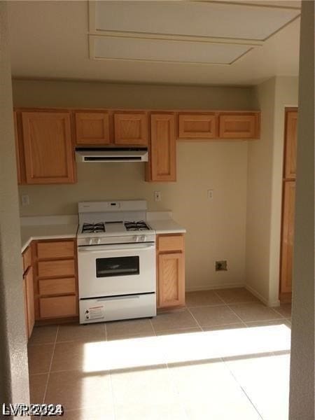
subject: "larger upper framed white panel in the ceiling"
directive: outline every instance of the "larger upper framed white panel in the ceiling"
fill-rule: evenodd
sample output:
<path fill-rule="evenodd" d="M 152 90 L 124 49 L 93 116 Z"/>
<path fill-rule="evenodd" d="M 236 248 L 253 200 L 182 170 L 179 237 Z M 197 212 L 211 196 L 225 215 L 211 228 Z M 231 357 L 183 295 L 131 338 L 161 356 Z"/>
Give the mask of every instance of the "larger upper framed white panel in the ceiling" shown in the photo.
<path fill-rule="evenodd" d="M 90 2 L 90 33 L 123 31 L 265 41 L 298 15 L 298 8 L 217 1 L 95 1 Z"/>

